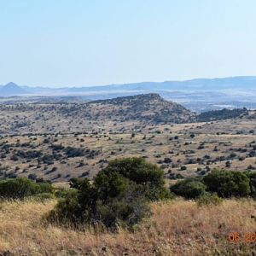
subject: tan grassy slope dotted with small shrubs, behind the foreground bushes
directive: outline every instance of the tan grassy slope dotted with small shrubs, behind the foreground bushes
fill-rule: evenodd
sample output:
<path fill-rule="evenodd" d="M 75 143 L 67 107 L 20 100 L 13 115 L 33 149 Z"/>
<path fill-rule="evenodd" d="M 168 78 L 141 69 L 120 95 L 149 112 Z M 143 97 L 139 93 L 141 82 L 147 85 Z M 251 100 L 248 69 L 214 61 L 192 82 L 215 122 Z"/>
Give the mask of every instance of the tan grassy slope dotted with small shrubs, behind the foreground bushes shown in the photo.
<path fill-rule="evenodd" d="M 168 172 L 181 174 L 183 177 L 201 176 L 201 172 L 197 172 L 197 168 L 201 168 L 202 171 L 206 171 L 207 167 L 211 170 L 214 168 L 229 169 L 226 168 L 227 160 L 230 160 L 231 170 L 234 171 L 244 171 L 248 166 L 256 168 L 256 157 L 248 155 L 255 146 L 255 143 L 252 143 L 255 141 L 255 135 L 249 133 L 249 130 L 255 129 L 255 121 L 244 121 L 241 124 L 236 122 L 226 120 L 208 125 L 205 123 L 157 125 L 154 127 L 145 125 L 141 129 L 142 131 L 135 133 L 135 137 L 131 137 L 131 131 L 127 133 L 117 131 L 116 134 L 100 132 L 99 134 L 78 136 L 59 134 L 57 137 L 53 134 L 47 137 L 44 135 L 0 137 L 0 155 L 6 156 L 1 158 L 0 176 L 3 177 L 4 172 L 15 173 L 19 177 L 36 174 L 37 177 L 44 177 L 54 183 L 62 183 L 69 181 L 70 177 L 81 177 L 86 172 L 90 173 L 89 177 L 95 176 L 97 172 L 108 165 L 107 160 L 135 156 L 143 156 L 148 161 L 158 164 L 164 169 L 166 177 L 169 177 Z M 225 134 L 221 134 L 224 131 Z M 244 133 L 236 134 L 238 131 L 244 131 Z M 220 134 L 217 135 L 217 132 Z M 191 133 L 195 134 L 194 138 L 190 137 Z M 173 139 L 176 136 L 178 139 Z M 49 143 L 44 143 L 46 138 Z M 198 149 L 202 143 L 204 148 Z M 65 150 L 61 150 L 59 153 L 62 154 L 62 157 L 55 158 L 52 165 L 48 165 L 42 160 L 38 164 L 38 158 L 18 157 L 18 159 L 13 159 L 15 152 L 30 150 L 53 156 L 52 144 L 61 144 L 66 148 L 95 150 L 98 154 L 93 158 L 88 156 L 68 158 Z M 8 153 L 4 149 L 7 145 L 10 148 Z M 241 149 L 244 151 L 241 152 Z M 236 153 L 236 156 L 230 158 L 231 153 Z M 206 155 L 210 158 L 205 159 Z M 171 159 L 172 162 L 165 162 L 165 159 Z M 181 172 L 181 166 L 186 166 L 187 170 Z M 56 170 L 50 172 L 53 167 Z M 167 182 L 169 182 L 168 179 Z"/>

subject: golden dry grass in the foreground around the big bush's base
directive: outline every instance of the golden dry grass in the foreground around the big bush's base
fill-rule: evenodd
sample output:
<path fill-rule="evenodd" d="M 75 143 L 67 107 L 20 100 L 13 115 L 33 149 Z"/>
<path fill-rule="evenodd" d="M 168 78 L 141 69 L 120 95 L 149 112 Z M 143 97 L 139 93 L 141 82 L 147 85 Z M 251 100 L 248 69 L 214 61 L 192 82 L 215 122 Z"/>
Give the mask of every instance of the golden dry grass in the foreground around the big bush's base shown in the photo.
<path fill-rule="evenodd" d="M 55 201 L 2 202 L 0 252 L 15 255 L 253 255 L 255 243 L 228 241 L 231 231 L 255 232 L 256 202 L 224 201 L 198 207 L 194 201 L 154 203 L 154 215 L 134 233 L 62 229 L 42 222 Z M 1 255 L 1 253 L 0 253 Z"/>

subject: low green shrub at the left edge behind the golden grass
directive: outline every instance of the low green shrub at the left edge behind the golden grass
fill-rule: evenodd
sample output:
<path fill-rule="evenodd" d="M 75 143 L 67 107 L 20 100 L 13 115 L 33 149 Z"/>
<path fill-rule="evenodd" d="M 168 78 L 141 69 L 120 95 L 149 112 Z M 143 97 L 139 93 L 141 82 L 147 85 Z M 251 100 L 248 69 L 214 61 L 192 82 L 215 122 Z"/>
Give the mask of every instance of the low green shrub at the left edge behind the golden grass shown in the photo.
<path fill-rule="evenodd" d="M 34 183 L 26 177 L 8 178 L 0 181 L 0 197 L 6 199 L 24 199 L 41 193 L 52 193 L 49 183 Z"/>

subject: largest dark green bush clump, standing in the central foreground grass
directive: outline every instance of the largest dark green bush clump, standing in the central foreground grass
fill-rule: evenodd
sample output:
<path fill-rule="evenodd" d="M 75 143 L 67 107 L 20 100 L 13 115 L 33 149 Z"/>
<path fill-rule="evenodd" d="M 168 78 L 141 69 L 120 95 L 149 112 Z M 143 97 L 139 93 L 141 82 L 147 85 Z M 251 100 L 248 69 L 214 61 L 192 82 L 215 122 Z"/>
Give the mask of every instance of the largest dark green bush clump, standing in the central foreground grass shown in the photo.
<path fill-rule="evenodd" d="M 164 172 L 143 158 L 113 160 L 94 177 L 71 180 L 71 191 L 49 213 L 61 224 L 133 227 L 149 214 L 148 203 L 169 198 Z"/>

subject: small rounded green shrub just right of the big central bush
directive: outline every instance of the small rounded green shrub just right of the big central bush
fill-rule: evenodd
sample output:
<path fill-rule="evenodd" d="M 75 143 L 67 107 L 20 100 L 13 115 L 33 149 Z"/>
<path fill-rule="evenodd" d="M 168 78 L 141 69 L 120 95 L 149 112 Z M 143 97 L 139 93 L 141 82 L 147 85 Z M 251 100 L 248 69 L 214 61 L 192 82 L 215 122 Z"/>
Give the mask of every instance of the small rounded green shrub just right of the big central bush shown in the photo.
<path fill-rule="evenodd" d="M 187 199 L 195 199 L 206 193 L 206 186 L 199 180 L 187 178 L 170 187 L 175 195 L 183 196 Z"/>

